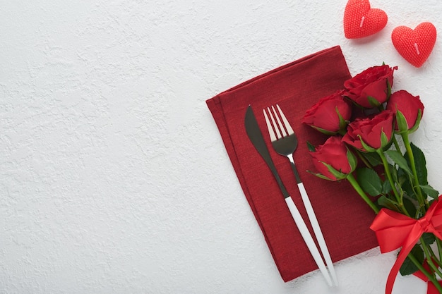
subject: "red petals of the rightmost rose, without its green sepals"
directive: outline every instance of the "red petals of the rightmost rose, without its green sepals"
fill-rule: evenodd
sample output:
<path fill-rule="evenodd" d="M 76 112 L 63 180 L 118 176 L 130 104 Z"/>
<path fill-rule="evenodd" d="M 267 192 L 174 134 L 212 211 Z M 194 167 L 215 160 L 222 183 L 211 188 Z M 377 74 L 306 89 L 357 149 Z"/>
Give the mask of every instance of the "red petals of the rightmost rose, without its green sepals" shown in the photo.
<path fill-rule="evenodd" d="M 422 104 L 419 96 L 413 96 L 405 90 L 400 90 L 391 94 L 386 109 L 393 111 L 394 114 L 396 114 L 396 111 L 400 111 L 407 121 L 407 130 L 414 128 L 414 126 L 417 127 L 419 124 L 419 121 L 417 120 L 419 117 L 419 110 L 419 119 L 422 118 L 422 115 L 424 114 L 424 104 Z M 397 122 L 395 123 L 395 130 L 399 130 Z"/>

